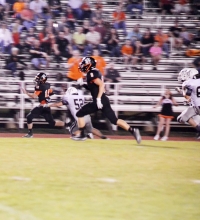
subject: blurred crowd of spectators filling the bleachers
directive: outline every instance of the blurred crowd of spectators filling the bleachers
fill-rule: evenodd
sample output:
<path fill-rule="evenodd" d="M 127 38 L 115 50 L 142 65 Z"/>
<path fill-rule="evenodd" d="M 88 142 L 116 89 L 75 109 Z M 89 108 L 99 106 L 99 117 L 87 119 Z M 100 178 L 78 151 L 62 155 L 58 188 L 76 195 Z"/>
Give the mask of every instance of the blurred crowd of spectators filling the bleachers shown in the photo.
<path fill-rule="evenodd" d="M 183 12 L 190 15 L 194 11 L 187 0 L 157 2 L 162 14 Z M 139 63 L 142 68 L 151 57 L 152 68 L 156 70 L 160 59 L 170 56 L 171 46 L 181 50 L 183 46 L 189 47 L 195 39 L 195 35 L 178 20 L 165 33 L 162 28 L 156 33 L 150 28 L 144 31 L 139 24 L 127 31 L 127 15 L 132 19 L 138 15 L 142 19 L 144 2 L 121 0 L 113 4 L 112 22 L 107 22 L 101 1 L 91 5 L 88 0 L 69 0 L 63 8 L 60 0 L 1 0 L 0 52 L 10 54 L 5 67 L 15 76 L 18 63 L 39 70 L 48 67 L 51 59 L 56 61 L 57 67 L 62 60 L 67 60 L 67 77 L 74 80 L 80 75 L 75 71 L 80 57 L 87 55 L 95 57 L 97 66 L 105 75 L 106 63 L 102 56 L 107 51 L 110 57 L 122 58 L 127 69 L 138 68 Z M 199 7 L 198 1 L 196 4 Z M 12 23 L 6 23 L 7 18 L 12 18 Z M 38 24 L 43 26 L 41 31 L 36 30 Z M 119 30 L 122 30 L 122 40 Z M 23 54 L 30 55 L 31 67 L 21 62 Z"/>

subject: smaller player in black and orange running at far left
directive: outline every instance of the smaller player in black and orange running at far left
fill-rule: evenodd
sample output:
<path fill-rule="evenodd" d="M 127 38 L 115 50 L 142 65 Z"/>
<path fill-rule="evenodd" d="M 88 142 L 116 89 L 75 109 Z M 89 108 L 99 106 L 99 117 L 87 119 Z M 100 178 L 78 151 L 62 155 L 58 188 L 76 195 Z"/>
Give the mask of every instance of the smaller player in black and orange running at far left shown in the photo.
<path fill-rule="evenodd" d="M 28 95 L 32 99 L 38 98 L 38 101 L 40 102 L 40 104 L 37 107 L 33 108 L 26 117 L 28 134 L 23 136 L 25 138 L 33 137 L 32 120 L 33 118 L 37 118 L 39 116 L 43 116 L 51 126 L 63 127 L 65 125 L 62 121 L 55 121 L 51 114 L 51 109 L 49 107 L 46 107 L 46 104 L 51 101 L 50 96 L 53 95 L 53 90 L 50 88 L 50 84 L 46 82 L 46 73 L 38 73 L 34 81 L 36 83 L 34 93 L 29 93 L 24 88 L 22 88 L 24 94 Z"/>

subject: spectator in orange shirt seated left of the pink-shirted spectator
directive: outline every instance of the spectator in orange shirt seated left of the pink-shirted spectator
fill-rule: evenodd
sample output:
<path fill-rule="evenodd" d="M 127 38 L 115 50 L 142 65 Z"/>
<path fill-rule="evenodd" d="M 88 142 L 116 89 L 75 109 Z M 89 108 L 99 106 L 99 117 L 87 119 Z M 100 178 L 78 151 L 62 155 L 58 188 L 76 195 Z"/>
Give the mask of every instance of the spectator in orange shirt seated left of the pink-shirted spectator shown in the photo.
<path fill-rule="evenodd" d="M 121 52 L 122 52 L 123 57 L 124 57 L 125 65 L 127 66 L 128 63 L 131 63 L 133 65 L 133 68 L 134 68 L 134 65 L 136 64 L 137 59 L 135 57 L 133 57 L 134 49 L 131 46 L 131 41 L 130 40 L 126 40 L 125 45 L 122 46 L 122 48 L 121 48 Z M 126 67 L 126 69 L 128 69 L 128 68 Z"/>

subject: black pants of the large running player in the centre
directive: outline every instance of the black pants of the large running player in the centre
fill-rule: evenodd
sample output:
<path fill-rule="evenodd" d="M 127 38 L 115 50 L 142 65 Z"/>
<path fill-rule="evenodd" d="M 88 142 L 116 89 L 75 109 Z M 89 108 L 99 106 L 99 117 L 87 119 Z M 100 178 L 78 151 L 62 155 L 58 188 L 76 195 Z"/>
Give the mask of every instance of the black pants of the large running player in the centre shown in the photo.
<path fill-rule="evenodd" d="M 100 109 L 103 115 L 108 118 L 108 120 L 116 125 L 118 118 L 116 117 L 113 109 L 110 106 L 110 101 L 107 96 L 103 95 L 101 98 L 101 102 L 103 104 L 103 108 Z M 84 117 L 85 115 L 90 115 L 94 112 L 97 112 L 99 109 L 97 107 L 96 100 L 84 105 L 76 114 L 77 117 Z"/>

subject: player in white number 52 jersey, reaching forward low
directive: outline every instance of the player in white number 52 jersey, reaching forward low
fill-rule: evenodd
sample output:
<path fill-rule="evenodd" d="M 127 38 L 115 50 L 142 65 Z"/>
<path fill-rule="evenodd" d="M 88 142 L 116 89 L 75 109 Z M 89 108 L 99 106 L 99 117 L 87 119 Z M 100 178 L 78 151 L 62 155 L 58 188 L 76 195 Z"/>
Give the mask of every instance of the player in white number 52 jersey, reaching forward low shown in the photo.
<path fill-rule="evenodd" d="M 77 124 L 77 111 L 84 105 L 85 98 L 83 96 L 83 92 L 81 90 L 77 90 L 75 87 L 69 87 L 62 98 L 61 102 L 57 103 L 49 103 L 48 107 L 60 107 L 62 105 L 66 105 L 68 110 L 70 111 L 74 122 L 72 123 L 69 131 L 73 136 L 76 131 L 78 131 L 78 124 Z M 84 117 L 86 122 L 86 133 L 87 137 L 93 139 L 93 134 L 100 137 L 101 139 L 108 139 L 104 136 L 99 130 L 92 126 L 91 117 L 90 115 L 86 115 Z"/>

